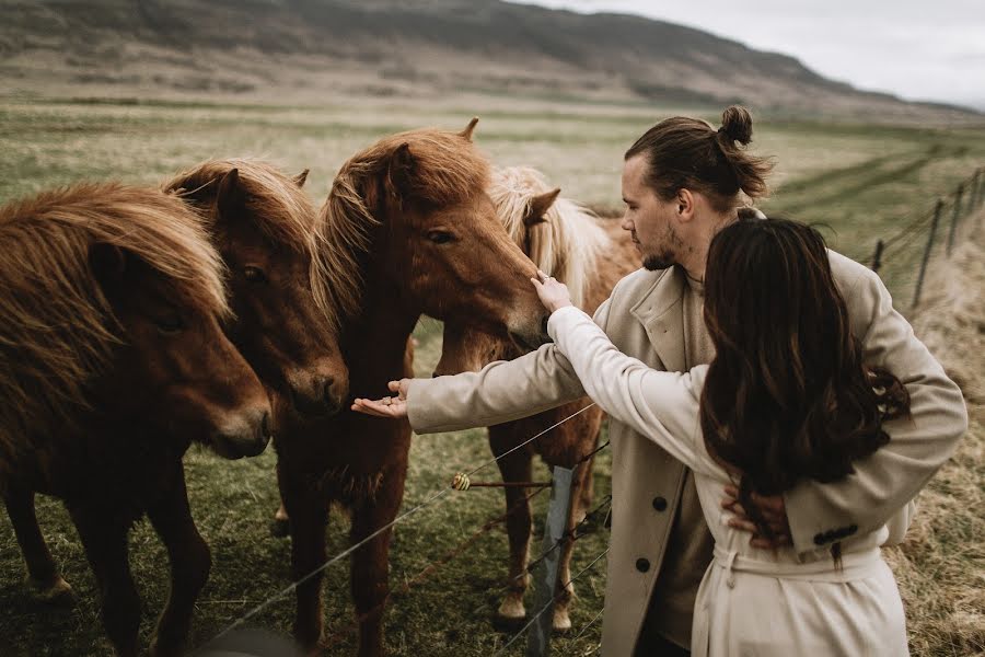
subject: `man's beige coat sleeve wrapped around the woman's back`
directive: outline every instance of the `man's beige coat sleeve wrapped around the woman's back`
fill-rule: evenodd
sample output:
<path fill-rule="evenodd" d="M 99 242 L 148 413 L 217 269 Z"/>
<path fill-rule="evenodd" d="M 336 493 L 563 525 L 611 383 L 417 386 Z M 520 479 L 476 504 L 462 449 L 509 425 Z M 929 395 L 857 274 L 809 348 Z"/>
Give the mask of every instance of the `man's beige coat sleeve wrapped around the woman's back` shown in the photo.
<path fill-rule="evenodd" d="M 890 441 L 857 461 L 855 473 L 831 484 L 802 482 L 785 494 L 793 546 L 799 553 L 864 535 L 890 522 L 899 541 L 908 525 L 911 500 L 951 457 L 967 429 L 961 390 L 945 373 L 873 272 L 859 270 L 843 289 L 853 331 L 862 341 L 865 361 L 884 367 L 906 387 L 907 418 L 887 423 Z"/>

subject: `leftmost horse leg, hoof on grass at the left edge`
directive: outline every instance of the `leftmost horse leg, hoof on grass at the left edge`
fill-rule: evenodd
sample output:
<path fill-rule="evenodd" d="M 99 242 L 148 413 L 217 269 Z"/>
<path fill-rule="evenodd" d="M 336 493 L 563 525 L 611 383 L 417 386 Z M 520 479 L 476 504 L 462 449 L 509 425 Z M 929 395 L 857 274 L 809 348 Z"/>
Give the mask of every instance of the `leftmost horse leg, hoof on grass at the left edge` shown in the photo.
<path fill-rule="evenodd" d="M 3 503 L 7 505 L 7 515 L 13 525 L 24 562 L 27 564 L 27 585 L 34 595 L 44 602 L 72 602 L 74 599 L 72 587 L 61 578 L 37 526 L 34 492 L 11 484 L 7 488 Z"/>

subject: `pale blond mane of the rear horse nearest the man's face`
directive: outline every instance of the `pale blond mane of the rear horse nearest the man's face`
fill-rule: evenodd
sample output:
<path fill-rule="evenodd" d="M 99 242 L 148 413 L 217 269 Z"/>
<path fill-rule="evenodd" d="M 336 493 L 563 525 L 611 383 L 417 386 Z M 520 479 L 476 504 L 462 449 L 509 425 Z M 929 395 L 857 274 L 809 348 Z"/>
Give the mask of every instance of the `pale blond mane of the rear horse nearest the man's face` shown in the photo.
<path fill-rule="evenodd" d="M 584 308 L 599 254 L 610 240 L 594 212 L 564 197 L 548 208 L 545 222 L 528 228 L 523 219 L 531 199 L 552 189 L 536 169 L 506 166 L 494 170 L 489 197 L 510 238 L 521 249 L 529 247 L 530 260 L 567 285 L 575 306 Z"/>

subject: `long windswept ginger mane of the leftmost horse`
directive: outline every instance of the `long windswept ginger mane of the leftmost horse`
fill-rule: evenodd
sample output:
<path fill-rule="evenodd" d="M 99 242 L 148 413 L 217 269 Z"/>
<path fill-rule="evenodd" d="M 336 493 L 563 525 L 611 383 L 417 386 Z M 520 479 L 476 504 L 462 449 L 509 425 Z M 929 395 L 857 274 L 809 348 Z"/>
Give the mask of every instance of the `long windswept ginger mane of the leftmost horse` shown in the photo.
<path fill-rule="evenodd" d="M 10 204 L 0 243 L 0 473 L 15 445 L 77 424 L 89 381 L 124 339 L 90 267 L 92 245 L 123 249 L 177 293 L 230 313 L 222 261 L 200 219 L 158 189 L 78 184 Z"/>

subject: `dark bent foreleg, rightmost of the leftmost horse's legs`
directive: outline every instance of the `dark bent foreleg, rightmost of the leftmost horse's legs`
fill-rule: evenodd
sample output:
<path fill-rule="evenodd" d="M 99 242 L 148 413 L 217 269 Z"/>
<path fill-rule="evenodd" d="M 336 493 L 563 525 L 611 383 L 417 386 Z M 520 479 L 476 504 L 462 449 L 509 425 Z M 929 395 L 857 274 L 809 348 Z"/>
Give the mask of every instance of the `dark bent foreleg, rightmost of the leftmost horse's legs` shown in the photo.
<path fill-rule="evenodd" d="M 174 468 L 164 494 L 147 511 L 171 562 L 171 593 L 151 642 L 150 652 L 155 657 L 181 654 L 192 625 L 195 600 L 209 578 L 212 564 L 209 546 L 198 533 L 188 508 L 185 470 L 181 461 Z"/>

